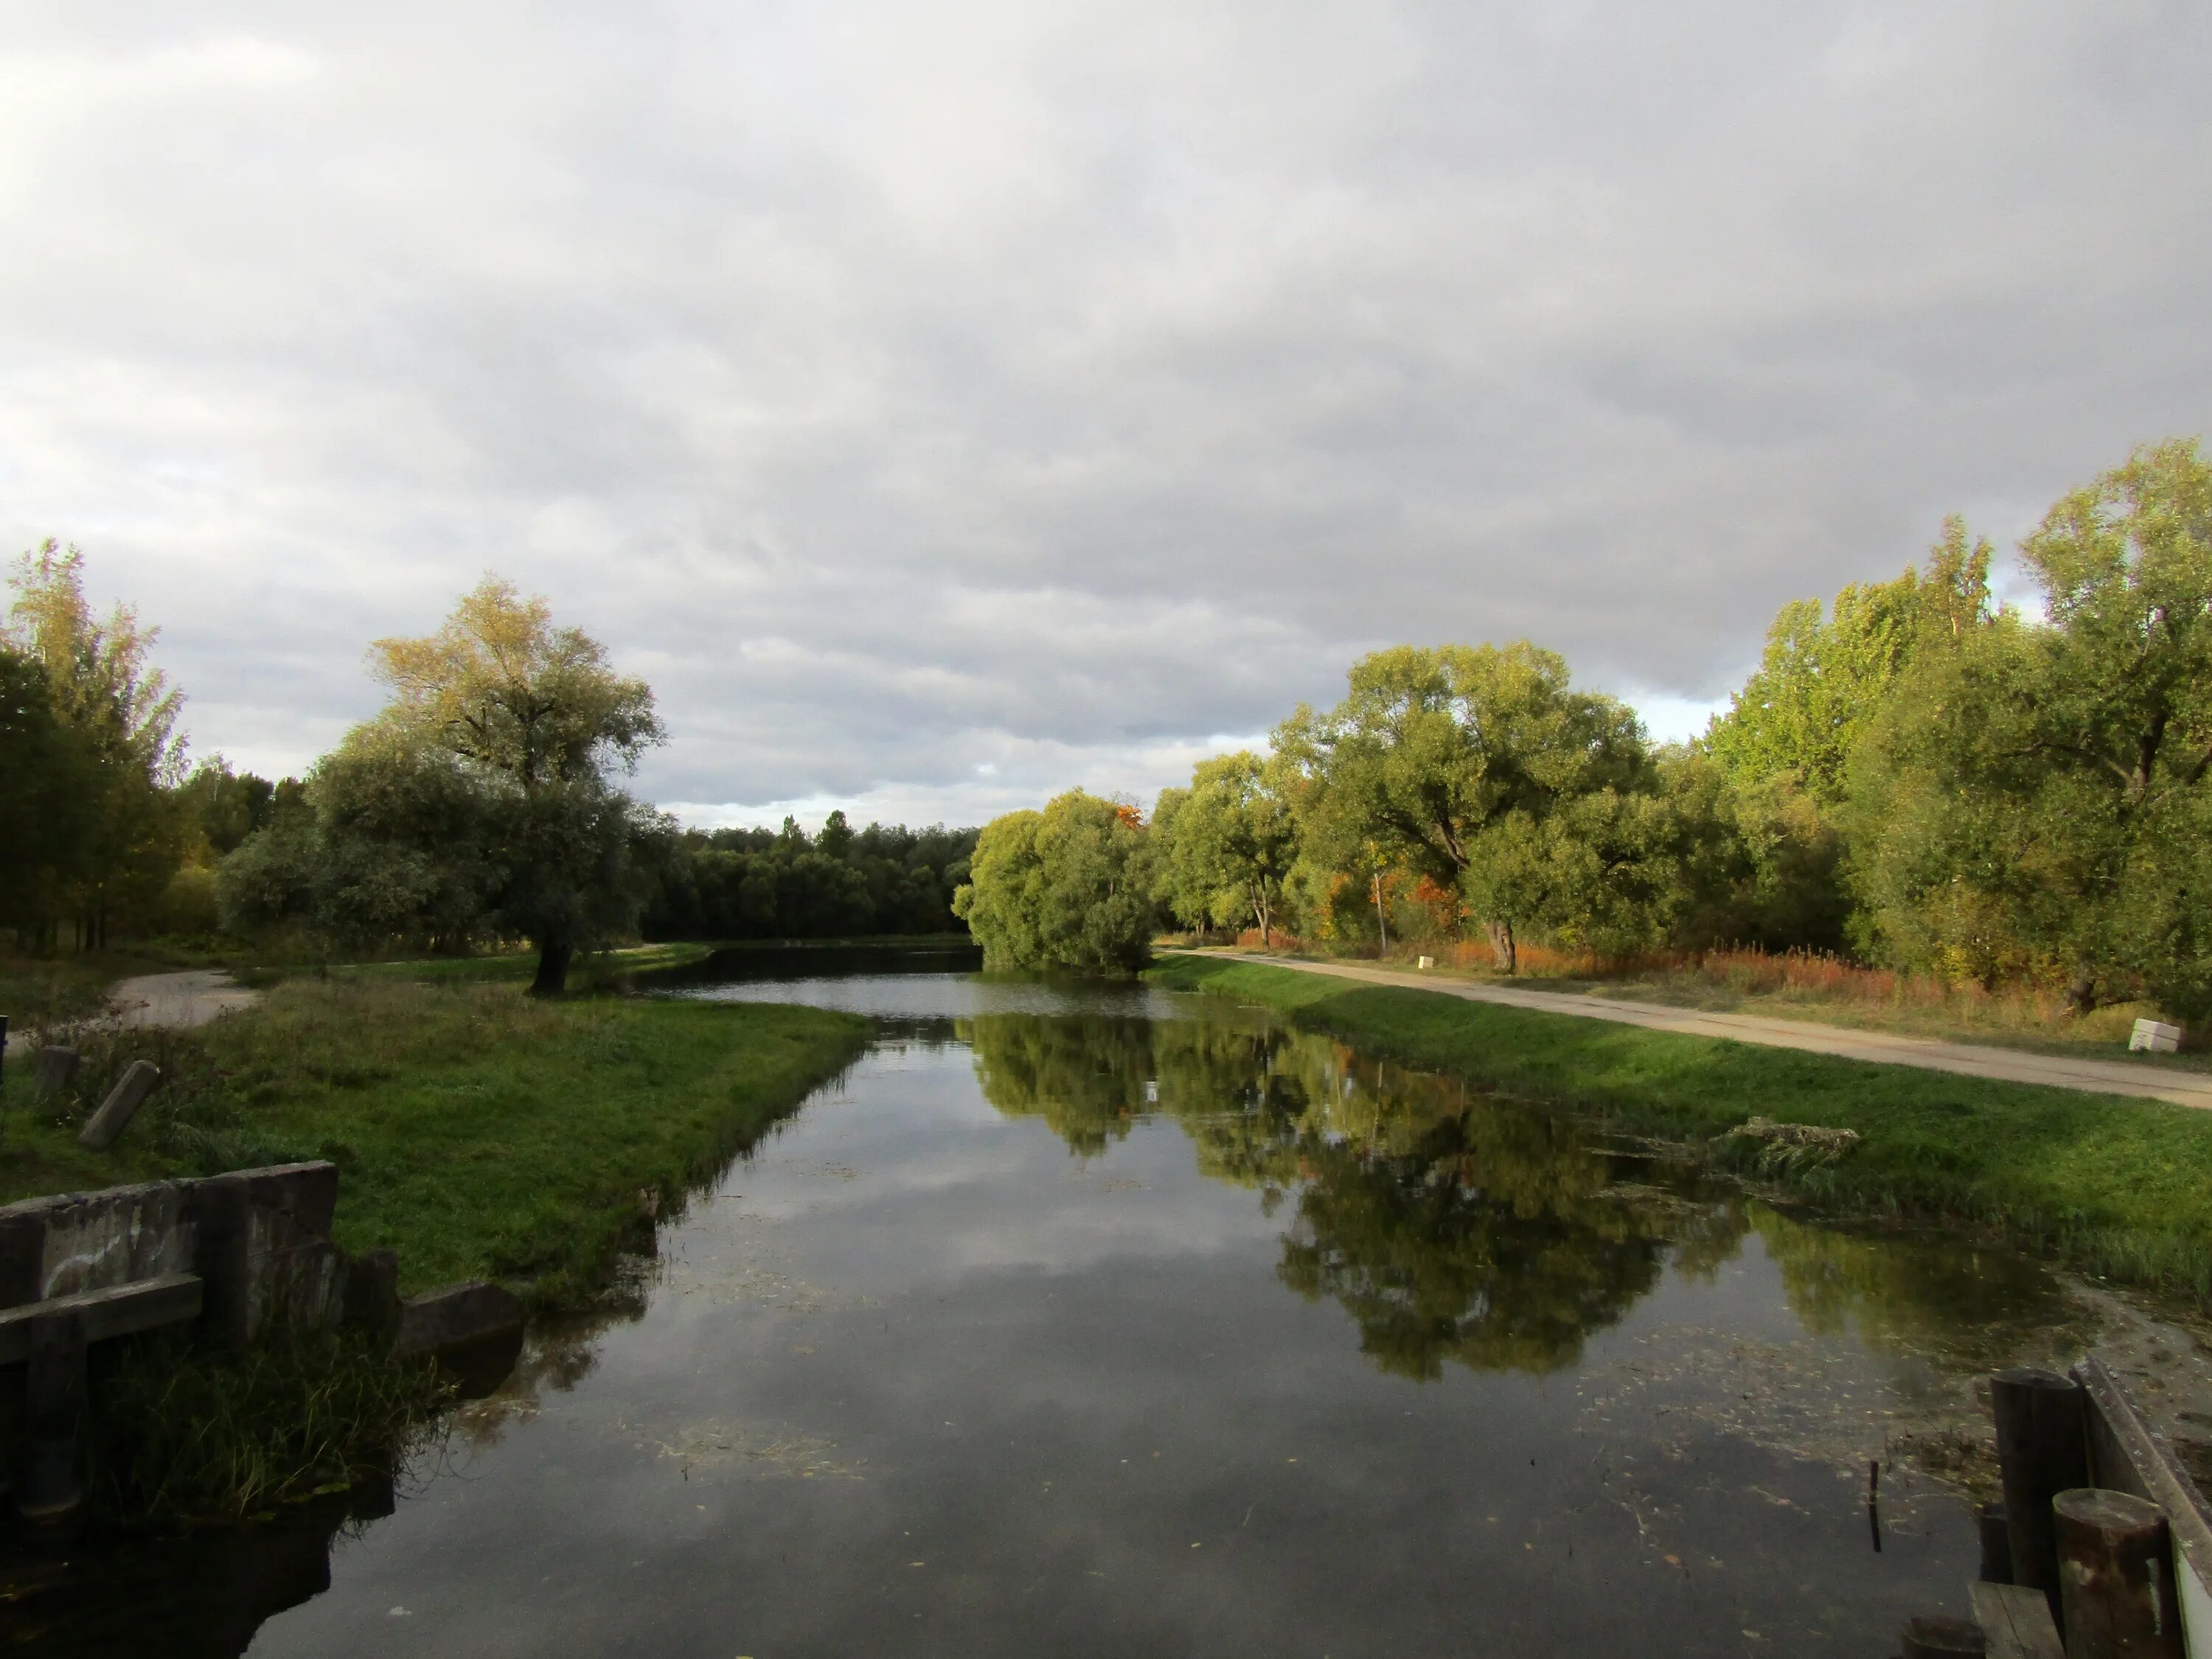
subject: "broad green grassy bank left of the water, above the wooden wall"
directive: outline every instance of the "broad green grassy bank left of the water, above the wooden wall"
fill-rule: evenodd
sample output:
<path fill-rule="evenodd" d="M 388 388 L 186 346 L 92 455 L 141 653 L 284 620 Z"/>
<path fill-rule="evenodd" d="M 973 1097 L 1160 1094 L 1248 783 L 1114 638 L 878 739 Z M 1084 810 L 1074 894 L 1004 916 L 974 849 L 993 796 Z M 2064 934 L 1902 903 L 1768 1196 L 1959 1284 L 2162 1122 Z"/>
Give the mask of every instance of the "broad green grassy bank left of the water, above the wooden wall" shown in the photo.
<path fill-rule="evenodd" d="M 88 1033 L 64 1117 L 9 1115 L 0 1201 L 327 1157 L 338 1243 L 398 1250 L 407 1290 L 489 1276 L 577 1305 L 639 1188 L 679 1199 L 865 1037 L 821 1009 L 288 980 L 199 1031 Z M 77 1124 L 135 1057 L 161 1091 L 113 1152 L 82 1150 Z"/>

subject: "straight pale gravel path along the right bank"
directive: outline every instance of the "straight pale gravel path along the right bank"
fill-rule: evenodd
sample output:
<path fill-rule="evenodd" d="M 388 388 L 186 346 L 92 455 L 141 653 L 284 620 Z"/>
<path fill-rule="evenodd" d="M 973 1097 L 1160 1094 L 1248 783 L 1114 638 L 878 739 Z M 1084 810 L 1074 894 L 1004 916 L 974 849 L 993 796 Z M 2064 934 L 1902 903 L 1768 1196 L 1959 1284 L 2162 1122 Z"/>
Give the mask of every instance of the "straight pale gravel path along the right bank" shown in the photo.
<path fill-rule="evenodd" d="M 2035 1055 L 2020 1048 L 1989 1048 L 1975 1042 L 1907 1037 L 1893 1031 L 1854 1031 L 1849 1026 L 1823 1026 L 1809 1020 L 1774 1020 L 1763 1013 L 1714 1013 L 1710 1009 L 1674 1009 L 1663 1002 L 1626 1002 L 1619 998 L 1593 998 L 1573 991 L 1524 991 L 1509 984 L 1469 984 L 1467 980 L 1447 980 L 1436 973 L 1378 969 L 1360 962 L 1301 962 L 1290 956 L 1248 956 L 1243 951 L 1188 953 L 1221 956 L 1234 962 L 1267 962 L 1270 967 L 1287 967 L 1298 973 L 1327 973 L 1336 980 L 1360 980 L 1365 984 L 1402 984 L 1416 991 L 1440 991 L 1442 995 L 1467 998 L 1469 1002 L 1504 1002 L 1513 1009 L 1573 1013 L 1586 1020 L 1613 1020 L 1617 1024 L 1648 1026 L 1652 1031 L 1686 1031 L 1694 1037 L 1756 1042 L 1767 1048 L 1805 1048 L 1816 1055 L 1874 1060 L 1885 1066 L 1955 1071 L 1966 1077 L 1997 1077 L 2011 1084 L 2051 1084 L 2053 1088 L 2081 1088 L 2095 1095 L 2141 1095 L 2146 1099 L 2170 1099 L 2177 1106 L 2212 1108 L 2212 1077 L 2172 1073 L 2150 1064 L 2130 1064 L 2126 1060 Z"/>

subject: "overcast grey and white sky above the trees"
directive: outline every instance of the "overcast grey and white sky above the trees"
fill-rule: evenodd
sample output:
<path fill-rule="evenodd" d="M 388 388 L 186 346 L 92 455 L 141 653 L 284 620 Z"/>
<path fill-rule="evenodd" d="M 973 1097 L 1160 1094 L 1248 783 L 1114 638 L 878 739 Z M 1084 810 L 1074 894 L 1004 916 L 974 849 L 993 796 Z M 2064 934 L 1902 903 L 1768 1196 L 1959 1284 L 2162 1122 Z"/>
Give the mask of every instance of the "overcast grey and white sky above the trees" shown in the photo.
<path fill-rule="evenodd" d="M 2205 429 L 2208 84 L 2181 0 L 0 0 L 0 531 L 259 772 L 487 568 L 697 823 L 1150 799 L 1394 641 L 1679 734 Z"/>

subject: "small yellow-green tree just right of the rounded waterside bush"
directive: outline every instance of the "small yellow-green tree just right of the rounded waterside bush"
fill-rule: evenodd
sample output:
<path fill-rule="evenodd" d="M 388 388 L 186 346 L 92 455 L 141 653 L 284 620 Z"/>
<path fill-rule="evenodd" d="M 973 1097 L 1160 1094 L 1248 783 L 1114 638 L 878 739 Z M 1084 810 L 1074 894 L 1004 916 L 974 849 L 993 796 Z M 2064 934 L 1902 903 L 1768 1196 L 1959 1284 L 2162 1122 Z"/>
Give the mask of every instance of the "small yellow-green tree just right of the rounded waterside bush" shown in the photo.
<path fill-rule="evenodd" d="M 1190 927 L 1250 920 L 1261 942 L 1298 863 L 1294 776 L 1250 750 L 1199 761 L 1188 790 L 1161 790 L 1152 810 L 1159 898 Z"/>

